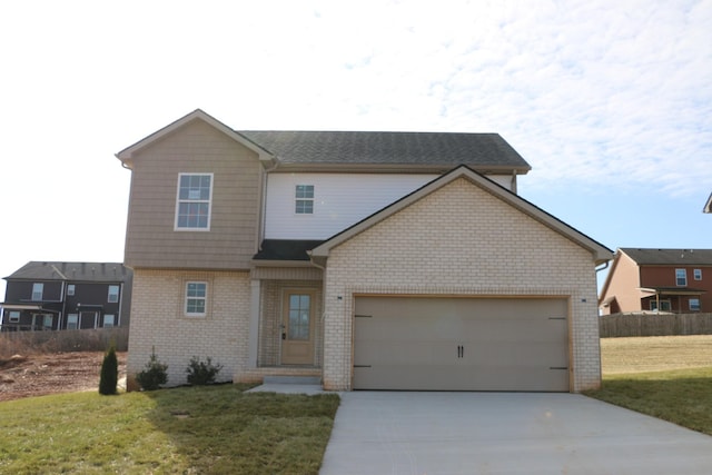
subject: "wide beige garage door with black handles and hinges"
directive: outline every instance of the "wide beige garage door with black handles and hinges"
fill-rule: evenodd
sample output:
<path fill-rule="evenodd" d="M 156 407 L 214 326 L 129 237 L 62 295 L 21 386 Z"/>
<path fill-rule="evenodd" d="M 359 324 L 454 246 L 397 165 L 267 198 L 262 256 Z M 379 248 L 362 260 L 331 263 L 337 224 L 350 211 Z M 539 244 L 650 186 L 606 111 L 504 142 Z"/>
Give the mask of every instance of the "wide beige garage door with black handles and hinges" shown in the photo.
<path fill-rule="evenodd" d="M 355 389 L 568 390 L 567 304 L 357 297 Z"/>

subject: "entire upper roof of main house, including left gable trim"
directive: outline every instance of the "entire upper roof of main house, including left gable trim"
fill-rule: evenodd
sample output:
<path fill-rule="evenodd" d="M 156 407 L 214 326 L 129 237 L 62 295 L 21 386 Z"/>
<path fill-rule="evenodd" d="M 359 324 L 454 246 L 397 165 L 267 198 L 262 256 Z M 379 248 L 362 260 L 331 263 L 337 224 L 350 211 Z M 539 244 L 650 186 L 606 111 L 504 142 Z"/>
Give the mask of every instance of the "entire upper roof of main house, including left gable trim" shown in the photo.
<path fill-rule="evenodd" d="M 498 133 L 233 130 L 200 109 L 116 154 L 131 168 L 134 156 L 186 125 L 202 120 L 280 169 L 364 169 L 444 172 L 467 165 L 481 172 L 525 175 L 530 165 Z M 360 167 L 360 168 L 359 168 Z"/>

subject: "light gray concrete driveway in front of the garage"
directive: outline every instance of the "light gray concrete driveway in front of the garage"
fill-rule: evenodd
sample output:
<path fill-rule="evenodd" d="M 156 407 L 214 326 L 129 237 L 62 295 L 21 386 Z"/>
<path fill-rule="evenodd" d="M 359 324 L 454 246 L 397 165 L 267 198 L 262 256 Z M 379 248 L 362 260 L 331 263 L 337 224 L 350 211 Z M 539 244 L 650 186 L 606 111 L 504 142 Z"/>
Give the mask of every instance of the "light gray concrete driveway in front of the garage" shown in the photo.
<path fill-rule="evenodd" d="M 712 437 L 581 395 L 342 397 L 322 475 L 712 473 Z"/>

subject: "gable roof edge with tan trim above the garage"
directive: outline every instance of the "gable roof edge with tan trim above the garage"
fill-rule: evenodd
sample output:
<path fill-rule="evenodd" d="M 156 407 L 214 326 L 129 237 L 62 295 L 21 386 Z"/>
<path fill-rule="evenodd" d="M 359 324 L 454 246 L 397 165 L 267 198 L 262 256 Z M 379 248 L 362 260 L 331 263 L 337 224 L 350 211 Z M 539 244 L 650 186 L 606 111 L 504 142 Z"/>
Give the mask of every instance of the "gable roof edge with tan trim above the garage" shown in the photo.
<path fill-rule="evenodd" d="M 415 201 L 426 197 L 433 191 L 448 185 L 449 182 L 458 179 L 465 178 L 469 180 L 473 185 L 482 188 L 483 190 L 494 195 L 495 197 L 502 199 L 504 202 L 513 206 L 531 218 L 542 222 L 544 226 L 551 228 L 552 230 L 561 234 L 562 236 L 568 238 L 574 241 L 578 246 L 590 250 L 593 256 L 596 265 L 606 263 L 613 258 L 613 251 L 602 244 L 593 240 L 589 236 L 583 232 L 574 229 L 568 226 L 564 221 L 557 219 L 556 217 L 550 215 L 548 212 L 542 210 L 535 205 L 532 205 L 530 201 L 520 197 L 516 194 L 513 194 L 508 189 L 497 185 L 485 176 L 476 172 L 469 167 L 459 166 L 449 172 L 442 175 L 441 177 L 434 179 L 433 181 L 426 184 L 425 186 L 418 188 L 412 194 L 400 198 L 399 200 L 388 205 L 379 211 L 368 216 L 367 218 L 360 220 L 354 226 L 343 230 L 342 232 L 330 237 L 329 239 L 322 243 L 319 246 L 315 247 L 309 255 L 312 256 L 313 261 L 317 261 L 317 264 L 323 265 L 326 258 L 329 255 L 332 248 L 347 241 L 352 237 L 365 231 L 366 229 L 375 226 L 376 224 L 383 221 L 384 219 L 395 215 L 399 210 L 411 206 Z"/>

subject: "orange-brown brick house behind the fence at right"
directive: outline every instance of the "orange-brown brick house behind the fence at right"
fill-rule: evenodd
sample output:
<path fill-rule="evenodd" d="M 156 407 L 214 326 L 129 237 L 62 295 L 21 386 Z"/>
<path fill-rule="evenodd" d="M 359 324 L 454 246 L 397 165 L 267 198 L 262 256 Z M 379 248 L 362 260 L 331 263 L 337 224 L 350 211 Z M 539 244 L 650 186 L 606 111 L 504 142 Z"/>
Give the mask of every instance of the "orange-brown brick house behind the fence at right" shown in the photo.
<path fill-rule="evenodd" d="M 712 249 L 617 249 L 599 304 L 603 315 L 712 311 Z"/>

